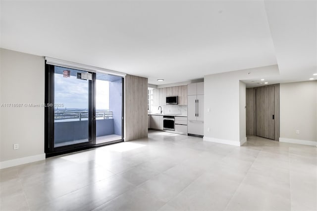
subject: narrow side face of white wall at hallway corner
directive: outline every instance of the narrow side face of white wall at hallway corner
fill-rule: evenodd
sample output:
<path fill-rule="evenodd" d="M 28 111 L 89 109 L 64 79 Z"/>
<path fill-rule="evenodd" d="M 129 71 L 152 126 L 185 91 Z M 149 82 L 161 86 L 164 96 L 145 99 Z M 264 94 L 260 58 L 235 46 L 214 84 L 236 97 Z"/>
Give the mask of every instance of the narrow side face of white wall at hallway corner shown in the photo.
<path fill-rule="evenodd" d="M 239 82 L 239 127 L 240 142 L 247 141 L 247 122 L 246 122 L 246 84 Z"/>

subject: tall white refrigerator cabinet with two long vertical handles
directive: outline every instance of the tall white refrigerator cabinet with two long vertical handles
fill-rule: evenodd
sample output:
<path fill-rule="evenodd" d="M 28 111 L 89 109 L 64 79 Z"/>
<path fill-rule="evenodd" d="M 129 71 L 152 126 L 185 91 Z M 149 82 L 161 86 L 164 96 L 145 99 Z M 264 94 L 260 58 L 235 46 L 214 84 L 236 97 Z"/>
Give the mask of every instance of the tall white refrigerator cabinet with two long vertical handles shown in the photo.
<path fill-rule="evenodd" d="M 199 95 L 198 95 L 199 93 Z M 188 134 L 204 135 L 204 83 L 188 84 Z"/>

